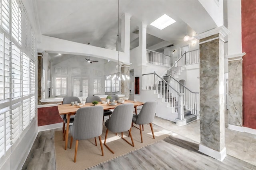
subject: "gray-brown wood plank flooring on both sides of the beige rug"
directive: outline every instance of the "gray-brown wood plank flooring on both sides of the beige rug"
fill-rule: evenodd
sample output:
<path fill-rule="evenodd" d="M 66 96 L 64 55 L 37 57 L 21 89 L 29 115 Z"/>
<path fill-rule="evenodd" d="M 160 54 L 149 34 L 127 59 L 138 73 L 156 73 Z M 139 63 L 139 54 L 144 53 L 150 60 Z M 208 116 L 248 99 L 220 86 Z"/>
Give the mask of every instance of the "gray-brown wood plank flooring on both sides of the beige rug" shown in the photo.
<path fill-rule="evenodd" d="M 158 119 L 160 118 L 156 117 L 156 121 Z M 162 129 L 157 125 L 153 126 Z M 174 136 L 95 166 L 91 170 L 256 170 L 255 165 L 233 156 L 227 155 L 220 162 L 198 150 L 198 142 L 174 133 Z M 39 132 L 22 170 L 55 169 L 54 130 Z"/>

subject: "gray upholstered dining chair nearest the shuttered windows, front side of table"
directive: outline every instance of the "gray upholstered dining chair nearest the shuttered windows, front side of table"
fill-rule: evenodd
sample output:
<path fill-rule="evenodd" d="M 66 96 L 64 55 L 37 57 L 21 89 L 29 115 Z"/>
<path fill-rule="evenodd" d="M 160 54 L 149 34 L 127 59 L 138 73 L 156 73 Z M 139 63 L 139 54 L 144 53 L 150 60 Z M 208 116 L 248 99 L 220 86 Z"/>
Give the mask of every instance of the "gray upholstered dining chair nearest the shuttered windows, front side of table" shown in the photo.
<path fill-rule="evenodd" d="M 70 149 L 72 147 L 73 139 L 76 140 L 74 162 L 76 162 L 76 154 L 78 149 L 78 141 L 86 139 L 95 139 L 95 145 L 97 146 L 96 137 L 99 137 L 102 156 L 103 147 L 100 135 L 102 134 L 102 106 L 88 106 L 82 107 L 76 111 L 76 117 L 73 125 L 69 126 L 71 133 Z"/>

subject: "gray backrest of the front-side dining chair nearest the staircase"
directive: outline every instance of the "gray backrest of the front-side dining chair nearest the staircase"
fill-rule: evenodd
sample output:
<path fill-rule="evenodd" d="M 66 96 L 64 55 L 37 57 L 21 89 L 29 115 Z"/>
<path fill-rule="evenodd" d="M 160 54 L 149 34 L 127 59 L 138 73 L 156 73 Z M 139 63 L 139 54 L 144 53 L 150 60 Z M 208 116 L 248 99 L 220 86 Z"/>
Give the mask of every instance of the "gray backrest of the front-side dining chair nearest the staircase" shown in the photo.
<path fill-rule="evenodd" d="M 156 101 L 145 102 L 135 122 L 138 125 L 152 123 L 156 113 Z"/>

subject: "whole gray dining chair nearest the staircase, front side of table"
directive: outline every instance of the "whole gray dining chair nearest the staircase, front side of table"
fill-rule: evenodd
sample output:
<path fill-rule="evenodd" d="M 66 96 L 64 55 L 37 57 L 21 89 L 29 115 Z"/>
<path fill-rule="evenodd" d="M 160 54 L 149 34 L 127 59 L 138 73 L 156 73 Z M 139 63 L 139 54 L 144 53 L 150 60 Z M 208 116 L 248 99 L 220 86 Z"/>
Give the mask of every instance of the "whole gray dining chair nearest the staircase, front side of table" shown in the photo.
<path fill-rule="evenodd" d="M 132 117 L 132 126 L 133 126 L 133 123 L 140 125 L 141 143 L 143 143 L 141 125 L 143 126 L 143 125 L 149 124 L 151 127 L 153 138 L 155 139 L 152 122 L 156 114 L 156 105 L 157 105 L 156 101 L 145 102 L 140 110 L 140 114 L 133 115 Z"/>

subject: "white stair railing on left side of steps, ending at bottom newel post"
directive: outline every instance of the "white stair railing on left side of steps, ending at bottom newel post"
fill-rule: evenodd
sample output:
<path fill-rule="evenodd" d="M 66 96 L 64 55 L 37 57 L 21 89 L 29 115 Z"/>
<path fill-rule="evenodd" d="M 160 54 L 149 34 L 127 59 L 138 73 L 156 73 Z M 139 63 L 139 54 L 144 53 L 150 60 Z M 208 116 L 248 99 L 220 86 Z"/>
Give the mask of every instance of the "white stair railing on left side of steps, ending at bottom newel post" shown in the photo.
<path fill-rule="evenodd" d="M 156 81 L 158 78 L 158 81 Z M 169 107 L 173 107 L 178 112 L 178 119 L 184 120 L 183 101 L 184 94 L 175 90 L 168 82 L 162 79 L 156 72 L 142 74 L 142 89 L 154 90 L 159 98 L 168 103 Z"/>

